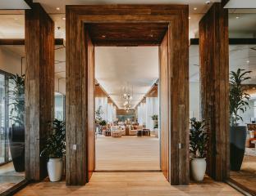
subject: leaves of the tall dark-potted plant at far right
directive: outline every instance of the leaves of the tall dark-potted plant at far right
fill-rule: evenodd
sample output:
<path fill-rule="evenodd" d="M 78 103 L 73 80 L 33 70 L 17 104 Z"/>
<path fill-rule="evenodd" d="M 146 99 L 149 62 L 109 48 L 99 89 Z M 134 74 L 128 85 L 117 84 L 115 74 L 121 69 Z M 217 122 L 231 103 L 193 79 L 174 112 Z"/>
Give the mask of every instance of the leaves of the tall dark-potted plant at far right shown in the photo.
<path fill-rule="evenodd" d="M 242 82 L 249 80 L 248 74 L 251 71 L 245 71 L 245 69 L 237 69 L 236 72 L 231 71 L 230 73 L 230 118 L 231 125 L 237 126 L 238 121 L 243 121 L 239 112 L 244 113 L 246 108 L 249 106 L 249 94 L 245 92 L 242 87 Z"/>

